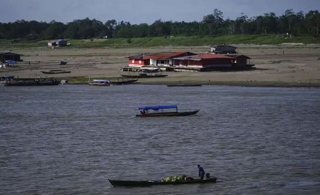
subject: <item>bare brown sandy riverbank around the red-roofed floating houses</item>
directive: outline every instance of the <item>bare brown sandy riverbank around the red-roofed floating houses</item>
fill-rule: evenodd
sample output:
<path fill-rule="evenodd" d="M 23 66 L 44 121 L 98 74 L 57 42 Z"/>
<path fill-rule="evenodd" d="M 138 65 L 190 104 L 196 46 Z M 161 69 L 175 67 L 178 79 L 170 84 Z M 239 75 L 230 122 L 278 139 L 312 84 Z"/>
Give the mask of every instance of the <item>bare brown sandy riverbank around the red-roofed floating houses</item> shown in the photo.
<path fill-rule="evenodd" d="M 124 57 L 139 53 L 161 51 L 191 51 L 205 53 L 208 47 L 175 48 L 124 48 L 124 49 L 12 49 L 11 52 L 23 54 L 23 62 L 16 68 L 1 68 L 0 75 L 19 77 L 51 76 L 40 71 L 62 69 L 68 74 L 54 75 L 59 78 L 75 77 L 121 77 L 120 67 L 127 66 Z M 165 72 L 167 78 L 139 79 L 140 84 L 202 84 L 239 86 L 320 86 L 319 48 L 287 48 L 287 46 L 240 46 L 240 54 L 251 57 L 257 70 L 242 72 Z M 284 51 L 284 54 L 283 54 Z M 30 66 L 28 62 L 30 61 Z M 59 65 L 68 61 L 67 65 Z"/>

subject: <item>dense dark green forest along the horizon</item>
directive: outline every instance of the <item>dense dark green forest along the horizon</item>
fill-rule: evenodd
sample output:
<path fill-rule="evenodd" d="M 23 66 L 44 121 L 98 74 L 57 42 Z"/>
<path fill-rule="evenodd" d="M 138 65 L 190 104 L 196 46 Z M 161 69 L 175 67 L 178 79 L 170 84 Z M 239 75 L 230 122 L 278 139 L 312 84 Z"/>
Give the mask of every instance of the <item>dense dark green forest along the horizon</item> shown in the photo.
<path fill-rule="evenodd" d="M 262 34 L 283 36 L 284 34 L 319 35 L 320 13 L 311 10 L 294 12 L 287 9 L 283 15 L 269 12 L 250 17 L 240 13 L 235 20 L 224 19 L 223 12 L 215 9 L 202 21 L 177 22 L 156 20 L 153 24 L 130 24 L 111 19 L 103 23 L 96 19 L 78 19 L 66 24 L 55 20 L 47 22 L 17 20 L 0 23 L 0 39 L 47 40 L 47 39 L 90 39 L 133 38 L 157 36 L 219 36 L 235 34 Z"/>

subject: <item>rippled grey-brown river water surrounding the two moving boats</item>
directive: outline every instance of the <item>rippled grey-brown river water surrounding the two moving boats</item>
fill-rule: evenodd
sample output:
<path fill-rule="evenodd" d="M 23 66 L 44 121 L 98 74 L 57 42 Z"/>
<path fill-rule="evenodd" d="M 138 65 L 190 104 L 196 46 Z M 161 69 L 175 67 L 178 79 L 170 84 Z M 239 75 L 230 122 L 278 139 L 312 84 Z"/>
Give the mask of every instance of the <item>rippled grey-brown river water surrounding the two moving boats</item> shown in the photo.
<path fill-rule="evenodd" d="M 178 104 L 187 117 L 135 117 Z M 306 88 L 0 86 L 0 194 L 316 195 L 320 90 Z M 115 188 L 197 164 L 216 184 Z M 223 180 L 220 180 L 223 181 Z"/>

